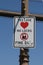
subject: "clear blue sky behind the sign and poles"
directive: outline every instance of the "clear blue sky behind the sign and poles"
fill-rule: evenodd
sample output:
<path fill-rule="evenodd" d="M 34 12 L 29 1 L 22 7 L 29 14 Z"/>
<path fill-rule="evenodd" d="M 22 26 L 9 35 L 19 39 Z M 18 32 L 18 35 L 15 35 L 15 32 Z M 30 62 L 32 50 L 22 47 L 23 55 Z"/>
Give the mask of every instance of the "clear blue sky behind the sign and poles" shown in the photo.
<path fill-rule="evenodd" d="M 43 14 L 43 1 L 29 2 L 29 12 Z M 0 10 L 21 12 L 21 0 L 0 0 Z M 43 65 L 43 21 L 36 21 L 36 46 L 29 48 L 30 65 Z M 19 48 L 13 48 L 13 18 L 0 16 L 0 65 L 19 65 Z"/>

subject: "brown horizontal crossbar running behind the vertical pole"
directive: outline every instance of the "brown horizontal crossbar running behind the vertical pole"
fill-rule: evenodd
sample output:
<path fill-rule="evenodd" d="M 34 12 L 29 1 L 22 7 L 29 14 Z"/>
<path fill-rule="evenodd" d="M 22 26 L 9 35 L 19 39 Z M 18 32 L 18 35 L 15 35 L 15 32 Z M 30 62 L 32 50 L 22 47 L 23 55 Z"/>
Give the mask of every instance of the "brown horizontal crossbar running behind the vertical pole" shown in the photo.
<path fill-rule="evenodd" d="M 5 16 L 5 17 L 21 16 L 21 13 L 13 12 L 13 11 L 7 11 L 7 10 L 0 10 L 0 16 Z M 43 21 L 43 14 L 31 14 L 31 13 L 29 13 L 27 15 L 36 17 L 36 20 L 38 20 L 38 21 Z"/>

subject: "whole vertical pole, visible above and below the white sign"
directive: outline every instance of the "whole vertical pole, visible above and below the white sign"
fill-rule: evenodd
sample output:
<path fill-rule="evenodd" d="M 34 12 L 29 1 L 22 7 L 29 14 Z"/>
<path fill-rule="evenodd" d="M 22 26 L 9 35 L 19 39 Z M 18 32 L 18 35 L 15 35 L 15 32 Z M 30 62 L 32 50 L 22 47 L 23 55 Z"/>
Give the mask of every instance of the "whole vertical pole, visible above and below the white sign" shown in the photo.
<path fill-rule="evenodd" d="M 21 15 L 22 16 L 28 16 L 28 0 L 22 0 L 21 1 Z M 20 56 L 19 56 L 19 62 L 20 65 L 29 65 L 29 50 L 27 48 L 21 48 L 20 49 Z"/>

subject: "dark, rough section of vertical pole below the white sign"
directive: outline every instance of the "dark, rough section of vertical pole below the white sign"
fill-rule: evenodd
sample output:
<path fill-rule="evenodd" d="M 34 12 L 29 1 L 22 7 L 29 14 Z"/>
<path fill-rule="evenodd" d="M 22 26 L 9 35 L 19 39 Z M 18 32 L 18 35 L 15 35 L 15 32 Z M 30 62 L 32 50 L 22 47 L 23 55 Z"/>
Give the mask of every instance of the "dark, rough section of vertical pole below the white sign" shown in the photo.
<path fill-rule="evenodd" d="M 21 48 L 20 49 L 20 56 L 19 56 L 19 62 L 20 65 L 29 65 L 29 55 L 28 55 L 29 49 Z"/>

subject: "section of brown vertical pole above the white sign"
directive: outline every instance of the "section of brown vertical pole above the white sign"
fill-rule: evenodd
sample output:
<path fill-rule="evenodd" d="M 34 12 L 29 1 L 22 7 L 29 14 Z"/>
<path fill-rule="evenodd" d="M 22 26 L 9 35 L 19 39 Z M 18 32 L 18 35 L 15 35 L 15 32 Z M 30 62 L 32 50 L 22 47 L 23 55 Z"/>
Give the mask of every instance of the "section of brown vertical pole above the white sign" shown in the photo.
<path fill-rule="evenodd" d="M 21 1 L 21 15 L 28 16 L 28 0 Z"/>

